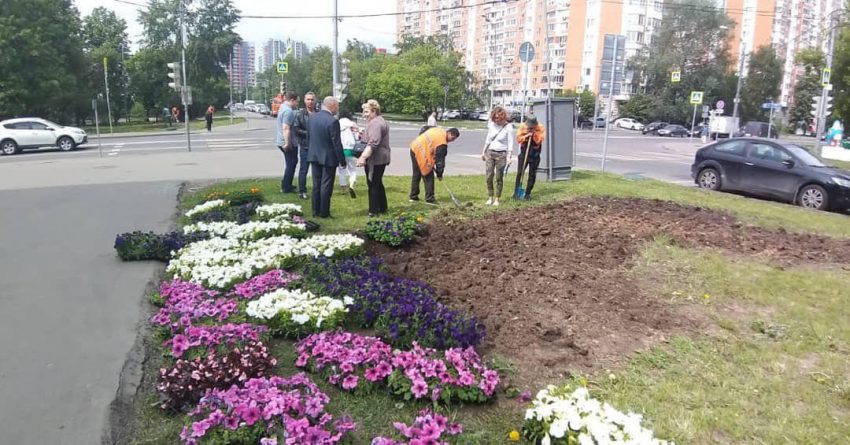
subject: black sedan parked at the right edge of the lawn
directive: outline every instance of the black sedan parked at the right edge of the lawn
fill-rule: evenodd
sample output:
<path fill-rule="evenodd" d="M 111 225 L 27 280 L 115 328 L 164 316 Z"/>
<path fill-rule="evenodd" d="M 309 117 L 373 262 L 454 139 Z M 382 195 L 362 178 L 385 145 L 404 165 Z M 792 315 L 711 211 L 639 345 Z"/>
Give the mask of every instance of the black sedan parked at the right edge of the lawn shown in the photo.
<path fill-rule="evenodd" d="M 758 138 L 727 139 L 699 149 L 691 166 L 698 186 L 735 190 L 819 210 L 850 208 L 850 171 L 806 149 Z"/>

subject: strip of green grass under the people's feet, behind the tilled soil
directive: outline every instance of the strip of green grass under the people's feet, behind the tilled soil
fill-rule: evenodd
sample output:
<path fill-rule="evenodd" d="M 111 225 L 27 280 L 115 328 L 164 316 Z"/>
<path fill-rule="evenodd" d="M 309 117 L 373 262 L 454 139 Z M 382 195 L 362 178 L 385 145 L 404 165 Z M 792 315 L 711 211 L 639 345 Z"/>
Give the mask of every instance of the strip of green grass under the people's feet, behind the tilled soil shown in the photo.
<path fill-rule="evenodd" d="M 514 175 L 510 174 L 505 182 L 504 195 L 513 190 Z M 504 199 L 498 208 L 487 207 L 484 178 L 481 176 L 446 176 L 443 182 L 464 203 L 460 210 L 453 207 L 442 183 L 436 185 L 437 207 L 424 203 L 409 203 L 407 200 L 410 179 L 405 176 L 384 178 L 387 199 L 391 212 L 423 211 L 439 213 L 442 216 L 474 218 L 494 211 L 522 208 L 528 205 L 550 204 L 552 202 L 573 199 L 582 196 L 619 196 L 662 199 L 683 204 L 726 210 L 747 224 L 769 228 L 784 228 L 796 232 L 814 232 L 825 235 L 850 237 L 850 219 L 845 215 L 817 212 L 788 204 L 761 201 L 728 193 L 716 193 L 694 187 L 682 187 L 654 180 L 632 181 L 621 176 L 589 172 L 573 172 L 573 180 L 564 182 L 538 181 L 534 189 L 534 200 L 530 203 L 514 202 Z M 304 207 L 304 213 L 310 214 L 310 201 L 300 200 L 297 195 L 283 195 L 279 179 L 247 179 L 215 184 L 198 190 L 185 197 L 184 209 L 191 208 L 213 191 L 245 190 L 258 187 L 265 198 L 272 202 L 293 202 Z M 319 221 L 323 230 L 329 232 L 356 231 L 362 229 L 367 221 L 368 201 L 365 181 L 357 183 L 357 199 L 351 199 L 339 188 L 331 200 L 333 219 Z"/>

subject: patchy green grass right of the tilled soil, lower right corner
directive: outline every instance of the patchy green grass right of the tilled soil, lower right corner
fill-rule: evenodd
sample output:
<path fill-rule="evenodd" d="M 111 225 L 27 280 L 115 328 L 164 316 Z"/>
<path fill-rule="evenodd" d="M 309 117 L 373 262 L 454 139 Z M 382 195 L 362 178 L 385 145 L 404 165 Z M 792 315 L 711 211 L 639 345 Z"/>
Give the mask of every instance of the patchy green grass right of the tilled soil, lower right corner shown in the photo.
<path fill-rule="evenodd" d="M 635 273 L 717 332 L 635 354 L 597 395 L 676 443 L 838 444 L 850 437 L 850 273 L 733 261 L 663 242 Z"/>

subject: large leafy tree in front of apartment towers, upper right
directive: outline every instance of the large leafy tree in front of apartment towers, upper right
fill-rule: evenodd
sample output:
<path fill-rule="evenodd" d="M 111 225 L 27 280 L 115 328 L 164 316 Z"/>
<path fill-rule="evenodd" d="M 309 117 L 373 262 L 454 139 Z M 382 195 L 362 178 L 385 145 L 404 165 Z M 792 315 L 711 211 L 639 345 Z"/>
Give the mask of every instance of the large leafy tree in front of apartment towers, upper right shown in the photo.
<path fill-rule="evenodd" d="M 649 45 L 627 63 L 634 72 L 635 91 L 652 98 L 649 118 L 690 122 L 691 91 L 704 91 L 706 103 L 732 102 L 728 30 L 733 21 L 710 0 L 664 2 L 664 20 Z M 681 71 L 681 81 L 670 73 Z M 730 91 L 729 85 L 732 84 Z"/>

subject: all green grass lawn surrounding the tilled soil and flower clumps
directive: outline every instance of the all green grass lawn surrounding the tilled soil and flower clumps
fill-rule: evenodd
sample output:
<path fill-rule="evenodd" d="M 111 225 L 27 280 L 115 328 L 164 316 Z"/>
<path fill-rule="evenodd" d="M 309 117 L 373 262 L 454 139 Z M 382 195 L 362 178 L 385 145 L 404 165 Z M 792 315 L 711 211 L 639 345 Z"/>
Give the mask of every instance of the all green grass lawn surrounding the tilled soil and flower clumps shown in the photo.
<path fill-rule="evenodd" d="M 432 207 L 407 202 L 409 178 L 387 177 L 385 182 L 390 207 L 398 212 L 477 218 L 582 196 L 643 197 L 726 210 L 752 225 L 850 237 L 850 219 L 844 215 L 614 175 L 575 172 L 569 182 L 540 182 L 531 203 L 507 199 L 499 208 L 483 205 L 482 177 L 446 177 L 446 185 L 469 203 L 460 210 L 452 206 L 441 184 L 437 185 L 440 205 Z M 274 178 L 192 189 L 180 205 L 188 209 L 209 193 L 250 187 L 259 187 L 268 201 L 300 203 L 309 215 L 309 202 L 280 194 L 279 180 Z M 365 192 L 364 181 L 358 184 L 357 199 L 336 193 L 331 204 L 335 218 L 319 221 L 322 231 L 361 229 L 367 220 Z M 679 444 L 847 443 L 850 272 L 824 266 L 780 268 L 675 247 L 665 239 L 646 245 L 631 267 L 649 295 L 704 314 L 710 326 L 704 335 L 672 338 L 636 353 L 619 369 L 579 377 L 596 396 L 621 410 L 643 413 L 659 437 Z M 279 371 L 295 372 L 293 342 L 276 340 L 271 347 L 280 360 Z M 137 398 L 137 434 L 132 443 L 176 443 L 183 418 L 165 415 L 155 406 L 152 374 L 163 359 L 157 355 L 158 345 L 149 345 L 149 351 L 153 352 Z M 499 360 L 502 373 L 509 374 L 510 367 L 509 357 Z M 317 384 L 331 398 L 331 413 L 348 414 L 358 422 L 354 440 L 358 444 L 390 434 L 393 421 L 408 422 L 422 407 L 383 393 L 355 396 L 324 382 Z M 449 415 L 464 424 L 461 443 L 509 443 L 508 432 L 522 425 L 523 406 L 500 395 L 498 404 L 457 408 Z"/>

